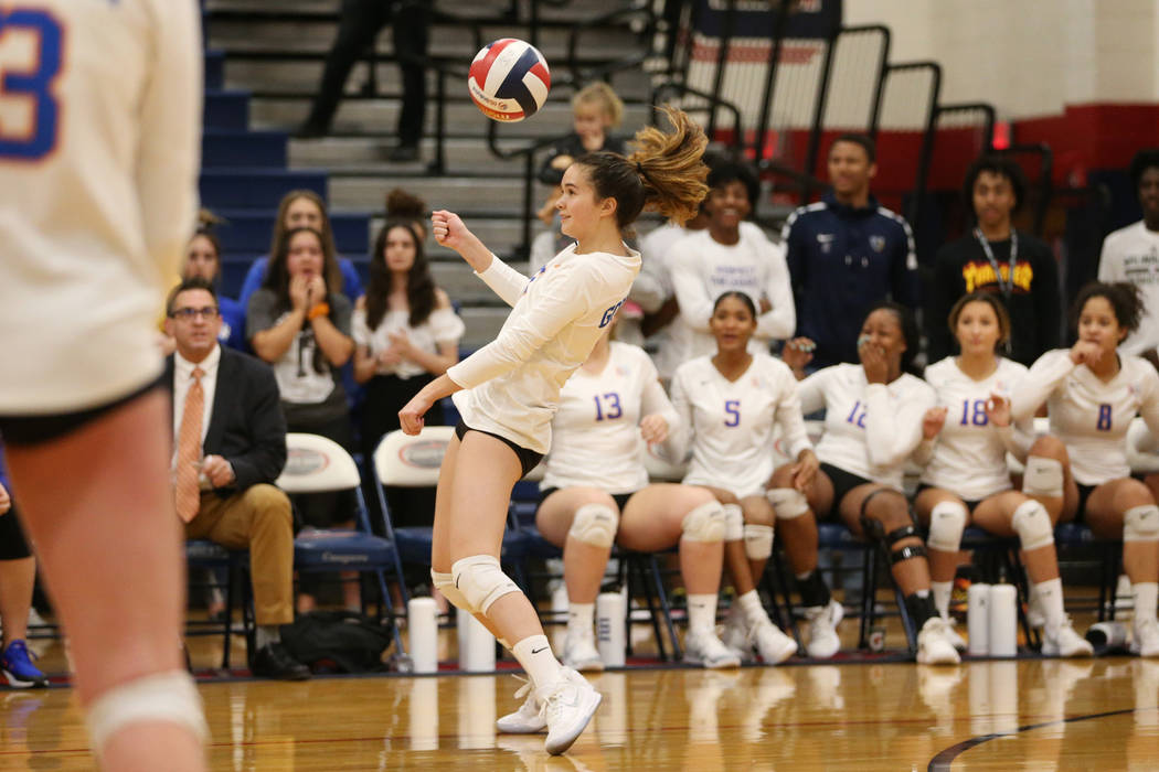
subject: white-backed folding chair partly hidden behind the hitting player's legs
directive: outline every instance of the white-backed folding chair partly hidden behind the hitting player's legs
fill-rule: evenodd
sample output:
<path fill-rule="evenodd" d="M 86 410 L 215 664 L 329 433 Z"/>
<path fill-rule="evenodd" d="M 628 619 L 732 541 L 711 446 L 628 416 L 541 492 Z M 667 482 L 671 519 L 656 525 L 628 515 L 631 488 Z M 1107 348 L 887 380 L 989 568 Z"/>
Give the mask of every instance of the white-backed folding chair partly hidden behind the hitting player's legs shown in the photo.
<path fill-rule="evenodd" d="M 382 486 L 435 487 L 438 485 L 443 456 L 446 454 L 452 436 L 454 436 L 454 428 L 450 426 L 424 426 L 423 431 L 415 436 L 409 436 L 399 429 L 384 436 L 374 449 L 374 458 L 371 464 L 376 481 L 374 490 L 378 493 L 378 501 L 386 521 L 387 537 L 398 547 L 398 556 L 402 564 L 431 565 L 432 529 L 425 525 L 394 528 Z M 433 519 L 433 513 L 431 513 L 431 517 Z M 515 568 L 516 575 L 512 579 L 525 591 L 527 586 L 520 561 L 526 556 L 526 537 L 512 527 L 509 519 L 508 529 L 503 534 L 500 560 Z M 403 600 L 408 600 L 406 582 L 400 580 L 400 583 L 403 584 Z"/>

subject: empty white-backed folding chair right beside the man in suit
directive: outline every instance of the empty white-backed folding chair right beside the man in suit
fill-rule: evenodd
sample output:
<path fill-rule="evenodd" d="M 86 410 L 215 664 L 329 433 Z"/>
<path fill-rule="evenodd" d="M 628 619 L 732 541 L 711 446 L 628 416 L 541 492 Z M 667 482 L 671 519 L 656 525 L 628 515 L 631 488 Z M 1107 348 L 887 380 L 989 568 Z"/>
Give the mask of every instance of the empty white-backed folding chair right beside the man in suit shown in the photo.
<path fill-rule="evenodd" d="M 388 538 L 374 536 L 370 528 L 355 459 L 337 442 L 316 434 L 286 434 L 286 465 L 277 479 L 277 486 L 283 491 L 322 493 L 353 490 L 358 501 L 355 530 L 305 529 L 298 534 L 293 547 L 294 568 L 313 573 L 373 573 L 382 598 L 379 612 L 385 605 L 387 613 L 395 618 L 398 615 L 391 602 L 385 572 L 393 572 L 402 584 L 402 565 L 395 545 Z M 392 625 L 392 632 L 398 652 L 402 654 L 406 649 L 396 624 Z"/>

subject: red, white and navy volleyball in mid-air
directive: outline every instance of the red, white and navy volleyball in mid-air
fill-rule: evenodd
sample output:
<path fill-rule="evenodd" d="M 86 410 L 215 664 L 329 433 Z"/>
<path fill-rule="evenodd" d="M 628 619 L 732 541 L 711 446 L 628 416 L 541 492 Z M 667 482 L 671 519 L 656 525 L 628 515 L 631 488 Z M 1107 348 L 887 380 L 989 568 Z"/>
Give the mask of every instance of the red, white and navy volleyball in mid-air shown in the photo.
<path fill-rule="evenodd" d="M 483 46 L 471 63 L 467 76 L 475 106 L 488 118 L 506 123 L 535 115 L 551 87 L 552 74 L 544 54 L 513 37 Z"/>

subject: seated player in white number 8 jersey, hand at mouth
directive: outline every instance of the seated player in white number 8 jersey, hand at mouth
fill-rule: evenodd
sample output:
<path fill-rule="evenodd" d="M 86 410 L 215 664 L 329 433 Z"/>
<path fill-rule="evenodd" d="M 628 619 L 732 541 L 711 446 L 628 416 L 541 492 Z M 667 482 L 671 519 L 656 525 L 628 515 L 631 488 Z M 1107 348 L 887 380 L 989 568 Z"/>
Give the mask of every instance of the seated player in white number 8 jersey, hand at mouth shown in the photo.
<path fill-rule="evenodd" d="M 1132 284 L 1091 282 L 1071 309 L 1078 341 L 1048 351 L 1014 391 L 1014 420 L 1026 420 L 1045 404 L 1050 435 L 1040 438 L 1027 466 L 1030 488 L 1063 522 L 1085 522 L 1098 538 L 1123 539 L 1123 569 L 1135 596 L 1131 650 L 1159 656 L 1159 507 L 1151 490 L 1131 476 L 1128 428 L 1142 417 L 1159 436 L 1159 374 L 1118 345 L 1143 316 Z M 1154 450 L 1154 448 L 1147 448 Z"/>

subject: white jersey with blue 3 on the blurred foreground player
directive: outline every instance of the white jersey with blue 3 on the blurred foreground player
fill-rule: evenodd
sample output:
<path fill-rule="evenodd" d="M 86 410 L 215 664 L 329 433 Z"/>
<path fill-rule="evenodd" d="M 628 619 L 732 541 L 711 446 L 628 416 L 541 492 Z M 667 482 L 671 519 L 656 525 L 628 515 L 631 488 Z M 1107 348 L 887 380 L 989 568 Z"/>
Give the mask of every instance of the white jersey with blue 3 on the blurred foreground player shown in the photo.
<path fill-rule="evenodd" d="M 0 9 L 0 413 L 95 407 L 161 373 L 156 319 L 196 214 L 198 13 Z"/>

